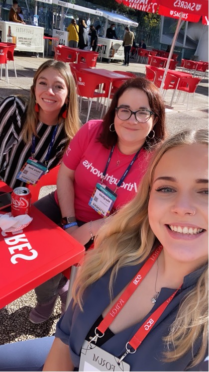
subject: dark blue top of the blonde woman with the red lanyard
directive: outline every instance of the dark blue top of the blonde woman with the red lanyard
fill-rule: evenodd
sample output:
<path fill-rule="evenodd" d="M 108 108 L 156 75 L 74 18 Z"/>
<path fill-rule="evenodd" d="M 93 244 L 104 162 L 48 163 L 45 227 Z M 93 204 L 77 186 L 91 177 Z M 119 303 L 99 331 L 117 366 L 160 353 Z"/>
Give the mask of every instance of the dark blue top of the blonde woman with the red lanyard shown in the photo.
<path fill-rule="evenodd" d="M 119 270 L 113 286 L 113 298 L 125 287 L 134 275 L 136 275 L 141 265 L 142 264 L 125 267 Z M 130 371 L 185 371 L 187 366 L 189 366 L 192 361 L 192 351 L 175 362 L 162 362 L 162 351 L 166 350 L 166 345 L 164 345 L 162 338 L 163 336 L 168 335 L 169 326 L 176 317 L 180 301 L 183 299 L 185 294 L 195 286 L 202 271 L 203 268 L 184 278 L 182 288 L 177 292 L 174 299 L 167 306 L 166 310 L 158 319 L 148 336 L 138 347 L 136 353 L 125 357 L 124 361 L 130 365 Z M 86 289 L 83 296 L 83 312 L 80 311 L 78 305 L 72 308 L 71 301 L 67 311 L 57 323 L 55 336 L 59 337 L 65 344 L 69 345 L 72 362 L 76 368 L 79 367 L 81 348 L 88 332 L 110 302 L 108 293 L 110 273 L 111 269 L 108 270 L 101 279 Z M 101 348 L 113 354 L 115 357 L 120 358 L 125 352 L 126 342 L 128 342 L 128 340 L 130 340 L 130 338 L 136 333 L 145 319 L 151 315 L 152 312 L 173 293 L 173 291 L 174 290 L 170 288 L 162 288 L 157 302 L 144 319 L 136 325 L 113 335 L 101 346 Z M 197 353 L 200 343 L 201 339 L 196 342 L 193 350 L 194 355 Z M 200 370 L 200 366 L 196 366 L 193 369 L 187 369 L 187 371 Z"/>

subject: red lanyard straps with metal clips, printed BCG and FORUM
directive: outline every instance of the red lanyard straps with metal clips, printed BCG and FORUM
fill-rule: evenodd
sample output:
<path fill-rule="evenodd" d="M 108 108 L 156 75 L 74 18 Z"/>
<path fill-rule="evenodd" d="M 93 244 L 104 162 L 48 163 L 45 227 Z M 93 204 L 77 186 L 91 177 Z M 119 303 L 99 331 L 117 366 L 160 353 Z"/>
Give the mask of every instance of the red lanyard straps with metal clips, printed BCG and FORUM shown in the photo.
<path fill-rule="evenodd" d="M 145 264 L 142 266 L 142 268 L 138 271 L 138 273 L 135 275 L 135 277 L 131 280 L 127 288 L 123 291 L 120 298 L 114 303 L 114 305 L 111 307 L 111 309 L 108 311 L 100 325 L 96 328 L 95 334 L 96 336 L 92 339 L 92 341 L 97 342 L 98 337 L 103 337 L 104 332 L 106 329 L 110 326 L 113 319 L 117 314 L 120 312 L 120 310 L 123 308 L 125 303 L 128 301 L 130 296 L 133 294 L 133 292 L 136 290 L 138 285 L 141 283 L 141 281 L 146 277 L 147 273 L 151 269 L 151 267 L 154 265 L 155 261 L 157 260 L 159 254 L 161 253 L 163 247 L 160 245 L 156 250 L 150 255 L 148 260 L 145 262 Z M 181 284 L 182 285 L 182 284 Z M 142 343 L 144 338 L 148 335 L 154 324 L 157 322 L 159 317 L 162 315 L 163 311 L 166 309 L 168 304 L 171 302 L 173 297 L 175 296 L 176 292 L 180 289 L 181 285 L 178 289 L 176 289 L 171 296 L 167 298 L 153 313 L 150 315 L 150 318 L 147 318 L 145 322 L 142 324 L 142 326 L 138 329 L 138 331 L 135 333 L 135 335 L 132 337 L 130 341 L 126 344 L 126 353 L 120 358 L 120 361 L 127 355 L 127 354 L 133 354 L 136 352 L 136 349 L 139 347 L 139 345 Z M 97 329 L 103 333 L 102 336 L 99 336 L 97 334 Z M 134 351 L 131 352 L 127 345 L 130 345 Z"/>

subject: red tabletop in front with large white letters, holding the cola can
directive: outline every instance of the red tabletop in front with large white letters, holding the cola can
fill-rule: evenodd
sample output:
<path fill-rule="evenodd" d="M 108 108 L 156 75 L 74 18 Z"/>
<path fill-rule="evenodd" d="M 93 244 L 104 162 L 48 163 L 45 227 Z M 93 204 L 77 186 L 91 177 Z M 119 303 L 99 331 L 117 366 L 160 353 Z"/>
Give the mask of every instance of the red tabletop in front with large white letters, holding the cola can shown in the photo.
<path fill-rule="evenodd" d="M 0 231 L 0 308 L 84 257 L 85 248 L 34 206 L 31 217 L 21 232 Z"/>

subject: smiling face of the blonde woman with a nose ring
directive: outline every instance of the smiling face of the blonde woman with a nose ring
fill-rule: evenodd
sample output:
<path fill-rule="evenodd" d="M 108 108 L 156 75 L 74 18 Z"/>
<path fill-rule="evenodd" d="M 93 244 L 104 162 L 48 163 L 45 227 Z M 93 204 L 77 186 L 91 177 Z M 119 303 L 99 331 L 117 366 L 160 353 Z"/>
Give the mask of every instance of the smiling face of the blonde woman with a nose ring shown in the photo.
<path fill-rule="evenodd" d="M 208 260 L 208 146 L 168 150 L 159 161 L 148 206 L 152 231 L 172 259 Z"/>

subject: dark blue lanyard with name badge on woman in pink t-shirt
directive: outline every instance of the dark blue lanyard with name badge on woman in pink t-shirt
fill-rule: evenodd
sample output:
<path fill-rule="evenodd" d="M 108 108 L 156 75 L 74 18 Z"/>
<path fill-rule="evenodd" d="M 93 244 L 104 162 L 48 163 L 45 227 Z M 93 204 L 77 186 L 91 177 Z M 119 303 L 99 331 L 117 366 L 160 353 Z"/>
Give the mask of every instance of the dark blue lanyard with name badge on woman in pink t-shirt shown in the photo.
<path fill-rule="evenodd" d="M 112 157 L 112 154 L 113 154 L 113 151 L 114 151 L 114 148 L 115 148 L 115 145 L 112 146 L 112 149 L 109 153 L 109 157 L 107 159 L 107 162 L 106 162 L 106 166 L 105 166 L 105 169 L 104 169 L 104 172 L 103 172 L 103 175 L 102 175 L 102 183 L 97 183 L 97 185 L 95 186 L 95 189 L 93 191 L 93 194 L 90 198 L 90 201 L 89 201 L 89 205 L 95 209 L 100 215 L 104 216 L 104 217 L 107 217 L 109 216 L 110 214 L 110 211 L 112 209 L 112 206 L 117 198 L 117 194 L 116 194 L 116 190 L 117 188 L 119 188 L 125 177 L 127 176 L 128 172 L 130 171 L 133 163 L 135 162 L 139 152 L 141 149 L 139 149 L 137 151 L 137 153 L 134 155 L 132 161 L 130 162 L 129 166 L 127 167 L 127 169 L 125 170 L 125 172 L 123 173 L 121 179 L 118 181 L 114 191 L 112 191 L 109 187 L 107 187 L 106 185 L 103 185 L 103 180 L 106 176 L 106 171 L 107 171 L 107 168 L 108 168 L 108 165 L 109 165 L 109 162 L 110 162 L 110 159 Z"/>

